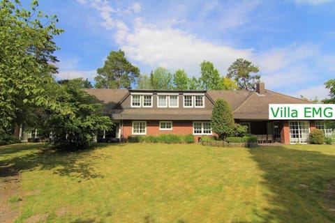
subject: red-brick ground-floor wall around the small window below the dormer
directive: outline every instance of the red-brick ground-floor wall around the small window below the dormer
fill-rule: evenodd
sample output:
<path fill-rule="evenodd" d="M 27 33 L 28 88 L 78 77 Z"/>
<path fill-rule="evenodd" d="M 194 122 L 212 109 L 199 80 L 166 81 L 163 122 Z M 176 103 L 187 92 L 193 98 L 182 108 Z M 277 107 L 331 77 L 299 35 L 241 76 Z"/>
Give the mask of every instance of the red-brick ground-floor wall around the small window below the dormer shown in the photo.
<path fill-rule="evenodd" d="M 130 135 L 138 135 L 132 133 L 132 121 L 124 121 L 123 130 L 121 130 L 124 139 Z M 193 134 L 193 121 L 172 121 L 172 130 L 159 130 L 159 121 L 147 121 L 146 135 L 159 134 Z M 194 135 L 195 141 L 198 141 L 201 135 Z"/>

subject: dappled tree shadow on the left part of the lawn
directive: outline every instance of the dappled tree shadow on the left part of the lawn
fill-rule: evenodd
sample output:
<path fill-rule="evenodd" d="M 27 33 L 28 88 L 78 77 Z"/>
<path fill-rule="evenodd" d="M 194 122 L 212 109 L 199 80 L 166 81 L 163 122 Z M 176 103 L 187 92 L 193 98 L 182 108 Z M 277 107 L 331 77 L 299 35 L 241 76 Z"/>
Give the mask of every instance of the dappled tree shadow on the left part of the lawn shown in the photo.
<path fill-rule="evenodd" d="M 91 178 L 103 178 L 101 174 L 91 167 L 94 157 L 91 151 L 100 149 L 110 144 L 97 145 L 93 149 L 65 152 L 52 151 L 44 148 L 43 144 L 16 144 L 3 146 L 0 148 L 0 178 L 4 176 L 16 175 L 17 171 L 54 170 L 54 174 L 60 176 L 70 176 L 89 180 Z M 28 151 L 24 153 L 24 151 Z M 30 151 L 30 152 L 29 152 Z M 4 171 L 10 168 L 10 171 Z"/>

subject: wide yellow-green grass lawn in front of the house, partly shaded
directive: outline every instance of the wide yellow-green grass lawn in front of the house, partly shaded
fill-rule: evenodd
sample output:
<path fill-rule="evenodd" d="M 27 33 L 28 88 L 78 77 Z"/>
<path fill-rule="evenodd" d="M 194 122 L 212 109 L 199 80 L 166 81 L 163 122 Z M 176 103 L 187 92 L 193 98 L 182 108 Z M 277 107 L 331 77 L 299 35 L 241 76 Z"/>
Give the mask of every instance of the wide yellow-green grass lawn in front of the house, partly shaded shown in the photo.
<path fill-rule="evenodd" d="M 20 172 L 16 222 L 335 222 L 335 146 L 41 148 L 0 147 Z"/>

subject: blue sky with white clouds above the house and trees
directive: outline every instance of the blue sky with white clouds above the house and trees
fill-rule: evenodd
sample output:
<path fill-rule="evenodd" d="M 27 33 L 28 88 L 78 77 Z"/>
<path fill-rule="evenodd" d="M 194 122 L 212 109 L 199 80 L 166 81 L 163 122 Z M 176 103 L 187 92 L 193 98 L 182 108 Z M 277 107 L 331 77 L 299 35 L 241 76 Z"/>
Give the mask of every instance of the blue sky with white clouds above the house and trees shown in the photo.
<path fill-rule="evenodd" d="M 119 49 L 142 74 L 163 66 L 200 77 L 211 61 L 225 76 L 244 58 L 266 89 L 308 99 L 329 98 L 335 78 L 334 0 L 40 0 L 39 10 L 65 30 L 54 38 L 61 79 L 94 80 Z"/>

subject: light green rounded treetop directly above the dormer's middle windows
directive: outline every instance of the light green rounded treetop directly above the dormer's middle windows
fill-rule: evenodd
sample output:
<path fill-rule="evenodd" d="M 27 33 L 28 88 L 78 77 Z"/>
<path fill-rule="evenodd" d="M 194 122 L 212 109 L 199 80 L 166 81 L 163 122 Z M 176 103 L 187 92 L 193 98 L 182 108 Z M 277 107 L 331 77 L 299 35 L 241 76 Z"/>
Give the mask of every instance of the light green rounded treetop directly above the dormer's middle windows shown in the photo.
<path fill-rule="evenodd" d="M 172 89 L 172 75 L 168 69 L 158 67 L 150 74 L 151 89 L 170 90 Z"/>

